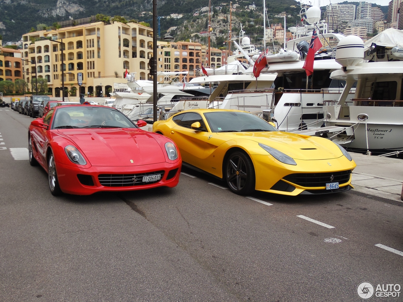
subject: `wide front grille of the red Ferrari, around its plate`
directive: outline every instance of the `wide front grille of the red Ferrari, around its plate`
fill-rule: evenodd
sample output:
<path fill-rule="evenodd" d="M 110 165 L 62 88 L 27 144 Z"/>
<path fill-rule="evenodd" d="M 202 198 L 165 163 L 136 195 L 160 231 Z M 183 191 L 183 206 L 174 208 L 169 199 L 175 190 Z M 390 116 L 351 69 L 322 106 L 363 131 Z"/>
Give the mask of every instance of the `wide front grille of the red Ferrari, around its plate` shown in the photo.
<path fill-rule="evenodd" d="M 160 174 L 161 177 L 158 180 L 152 180 L 149 182 L 143 182 L 143 176 L 152 176 Z M 127 187 L 127 186 L 139 186 L 144 184 L 155 184 L 164 177 L 164 170 L 137 173 L 137 174 L 100 174 L 98 180 L 102 186 L 106 187 Z"/>

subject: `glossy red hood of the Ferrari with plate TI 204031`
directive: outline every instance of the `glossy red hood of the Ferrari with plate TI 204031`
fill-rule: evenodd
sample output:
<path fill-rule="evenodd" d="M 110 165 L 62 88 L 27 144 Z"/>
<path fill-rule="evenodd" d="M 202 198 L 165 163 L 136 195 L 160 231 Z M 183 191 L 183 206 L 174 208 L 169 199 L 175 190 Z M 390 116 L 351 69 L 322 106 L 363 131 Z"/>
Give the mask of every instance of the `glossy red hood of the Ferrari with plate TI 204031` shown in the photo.
<path fill-rule="evenodd" d="M 73 141 L 94 166 L 147 165 L 165 162 L 160 145 L 145 131 L 121 128 L 58 131 Z"/>

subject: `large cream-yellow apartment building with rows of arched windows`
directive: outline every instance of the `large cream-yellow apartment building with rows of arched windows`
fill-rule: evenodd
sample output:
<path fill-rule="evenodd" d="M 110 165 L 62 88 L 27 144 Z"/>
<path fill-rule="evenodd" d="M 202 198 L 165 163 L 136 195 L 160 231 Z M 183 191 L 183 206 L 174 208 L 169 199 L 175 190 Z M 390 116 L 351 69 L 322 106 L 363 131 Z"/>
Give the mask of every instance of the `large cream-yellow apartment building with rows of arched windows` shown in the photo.
<path fill-rule="evenodd" d="M 64 43 L 63 66 L 62 44 L 58 42 Z M 126 69 L 137 79 L 150 78 L 147 63 L 152 55 L 152 29 L 138 23 L 96 22 L 23 35 L 26 81 L 35 77 L 36 67 L 37 77 L 47 79 L 49 92 L 55 97 L 62 94 L 62 69 L 64 96 L 72 87 L 77 89 L 77 96 L 100 96 L 101 91 L 107 95 L 113 91 L 114 83 L 126 83 Z M 81 87 L 78 72 L 83 73 Z"/>

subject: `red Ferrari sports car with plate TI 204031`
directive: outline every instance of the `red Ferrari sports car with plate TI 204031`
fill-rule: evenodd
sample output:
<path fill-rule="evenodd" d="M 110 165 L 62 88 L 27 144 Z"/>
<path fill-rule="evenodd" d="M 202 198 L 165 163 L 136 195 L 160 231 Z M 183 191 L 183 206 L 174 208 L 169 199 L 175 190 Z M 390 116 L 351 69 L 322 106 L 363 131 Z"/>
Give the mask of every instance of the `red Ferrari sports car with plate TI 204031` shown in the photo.
<path fill-rule="evenodd" d="M 172 188 L 181 155 L 167 137 L 139 129 L 145 125 L 110 107 L 56 106 L 29 126 L 29 163 L 48 172 L 53 195 Z"/>

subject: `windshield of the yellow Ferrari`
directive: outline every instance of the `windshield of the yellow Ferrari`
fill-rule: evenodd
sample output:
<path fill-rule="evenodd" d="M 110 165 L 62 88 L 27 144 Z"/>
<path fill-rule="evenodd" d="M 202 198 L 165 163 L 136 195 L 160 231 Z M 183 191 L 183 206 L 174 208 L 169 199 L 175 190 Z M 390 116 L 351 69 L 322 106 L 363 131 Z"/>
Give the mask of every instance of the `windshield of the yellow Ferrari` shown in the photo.
<path fill-rule="evenodd" d="M 278 131 L 265 120 L 247 112 L 206 112 L 204 116 L 212 132 Z"/>

